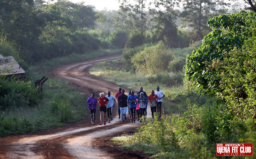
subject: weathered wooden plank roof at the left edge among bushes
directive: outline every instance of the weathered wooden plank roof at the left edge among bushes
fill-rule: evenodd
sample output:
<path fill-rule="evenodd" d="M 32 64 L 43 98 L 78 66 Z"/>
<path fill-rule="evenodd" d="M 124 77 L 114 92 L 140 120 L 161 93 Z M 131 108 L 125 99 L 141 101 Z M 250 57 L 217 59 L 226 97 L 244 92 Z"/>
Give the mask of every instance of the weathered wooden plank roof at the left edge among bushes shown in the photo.
<path fill-rule="evenodd" d="M 26 79 L 24 69 L 12 56 L 3 57 L 0 55 L 0 76 L 17 77 L 20 80 Z"/>

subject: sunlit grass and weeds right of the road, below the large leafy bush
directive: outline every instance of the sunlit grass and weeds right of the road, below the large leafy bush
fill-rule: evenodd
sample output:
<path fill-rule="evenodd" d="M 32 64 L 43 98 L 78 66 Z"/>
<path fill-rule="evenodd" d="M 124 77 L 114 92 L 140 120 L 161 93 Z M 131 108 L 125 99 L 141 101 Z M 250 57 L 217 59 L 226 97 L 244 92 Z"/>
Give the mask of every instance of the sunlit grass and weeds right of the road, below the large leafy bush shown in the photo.
<path fill-rule="evenodd" d="M 115 61 L 105 61 L 104 65 L 108 63 Z M 156 90 L 156 86 L 159 86 L 166 96 L 162 105 L 165 115 L 161 120 L 148 122 L 138 133 L 128 138 L 113 139 L 123 148 L 142 151 L 152 158 L 196 159 L 217 158 L 216 142 L 239 143 L 245 138 L 250 143 L 256 142 L 254 123 L 232 122 L 228 110 L 219 100 L 200 94 L 191 82 L 185 80 L 180 85 L 166 86 L 161 81 L 150 83 L 148 77 L 152 75 L 132 75 L 123 68 L 118 68 L 118 65 L 112 65 L 111 68 L 105 68 L 100 63 L 94 65 L 90 72 L 134 89 L 135 92 L 142 86 L 150 94 L 151 90 Z M 250 129 L 253 126 L 254 129 Z"/>

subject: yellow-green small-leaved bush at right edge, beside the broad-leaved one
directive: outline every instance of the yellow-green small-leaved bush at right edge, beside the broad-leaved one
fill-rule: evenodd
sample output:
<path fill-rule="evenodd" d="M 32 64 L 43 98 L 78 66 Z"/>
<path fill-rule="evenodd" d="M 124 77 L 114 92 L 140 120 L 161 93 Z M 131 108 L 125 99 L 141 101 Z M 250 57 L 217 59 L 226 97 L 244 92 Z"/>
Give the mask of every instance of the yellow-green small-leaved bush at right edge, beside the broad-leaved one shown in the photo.
<path fill-rule="evenodd" d="M 237 119 L 256 121 L 256 38 L 244 42 L 241 49 L 226 53 L 223 61 L 214 60 L 212 68 L 221 71 L 218 97 L 223 98 Z"/>

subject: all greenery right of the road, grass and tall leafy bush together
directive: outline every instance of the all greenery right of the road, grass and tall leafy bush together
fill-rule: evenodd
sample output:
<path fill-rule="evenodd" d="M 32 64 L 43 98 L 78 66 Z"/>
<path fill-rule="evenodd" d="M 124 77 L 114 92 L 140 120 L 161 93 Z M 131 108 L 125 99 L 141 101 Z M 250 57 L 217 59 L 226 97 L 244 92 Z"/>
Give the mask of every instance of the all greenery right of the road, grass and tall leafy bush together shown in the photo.
<path fill-rule="evenodd" d="M 116 140 L 123 142 L 124 148 L 143 151 L 153 158 L 217 158 L 216 143 L 255 145 L 255 17 L 255 13 L 242 11 L 210 19 L 213 32 L 192 54 L 187 53 L 186 76 L 180 84 L 168 83 L 172 80 L 167 75 L 177 71 L 153 75 L 140 71 L 134 61 L 135 74 L 130 74 L 129 79 L 138 84 L 126 80 L 126 86 L 136 90 L 143 86 L 146 92 L 160 86 L 166 95 L 165 115 L 148 121 L 129 140 Z M 228 23 L 233 18 L 239 19 Z M 149 48 L 152 46 L 140 49 L 131 58 Z M 177 50 L 169 51 L 173 54 Z M 178 63 L 180 58 L 169 61 L 167 69 L 172 70 L 175 65 L 170 64 Z M 111 71 L 104 70 L 109 80 L 117 83 L 124 80 L 122 75 L 129 74 L 123 68 Z"/>

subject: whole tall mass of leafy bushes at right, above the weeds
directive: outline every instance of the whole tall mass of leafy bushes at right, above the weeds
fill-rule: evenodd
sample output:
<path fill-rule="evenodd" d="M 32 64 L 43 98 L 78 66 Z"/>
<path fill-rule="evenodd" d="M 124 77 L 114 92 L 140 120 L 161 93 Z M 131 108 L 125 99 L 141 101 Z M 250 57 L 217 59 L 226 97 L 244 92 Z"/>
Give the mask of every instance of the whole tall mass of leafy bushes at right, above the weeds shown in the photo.
<path fill-rule="evenodd" d="M 187 56 L 186 76 L 199 90 L 227 102 L 230 113 L 242 119 L 255 116 L 253 63 L 247 60 L 254 54 L 248 48 L 253 48 L 255 21 L 255 13 L 244 11 L 211 18 L 213 31 Z"/>

